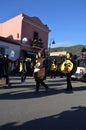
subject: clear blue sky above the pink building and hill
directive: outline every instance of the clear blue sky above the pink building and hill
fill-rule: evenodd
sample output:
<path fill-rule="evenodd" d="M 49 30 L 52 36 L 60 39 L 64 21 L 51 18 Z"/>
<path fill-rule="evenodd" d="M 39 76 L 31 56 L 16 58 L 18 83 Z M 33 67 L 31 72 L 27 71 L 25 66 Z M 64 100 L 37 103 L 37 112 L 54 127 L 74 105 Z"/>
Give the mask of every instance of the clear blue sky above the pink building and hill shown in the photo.
<path fill-rule="evenodd" d="M 37 16 L 51 32 L 51 47 L 86 45 L 86 0 L 2 0 L 0 23 L 21 13 Z"/>

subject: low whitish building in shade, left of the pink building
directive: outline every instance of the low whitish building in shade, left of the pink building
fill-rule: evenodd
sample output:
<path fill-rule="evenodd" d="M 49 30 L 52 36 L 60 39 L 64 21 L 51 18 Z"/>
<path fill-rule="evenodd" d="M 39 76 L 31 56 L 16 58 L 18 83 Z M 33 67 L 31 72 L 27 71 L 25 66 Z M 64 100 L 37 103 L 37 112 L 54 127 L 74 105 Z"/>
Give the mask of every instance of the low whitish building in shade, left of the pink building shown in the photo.
<path fill-rule="evenodd" d="M 9 55 L 9 59 L 15 61 L 20 56 L 20 44 L 13 40 L 0 37 L 0 54 Z"/>

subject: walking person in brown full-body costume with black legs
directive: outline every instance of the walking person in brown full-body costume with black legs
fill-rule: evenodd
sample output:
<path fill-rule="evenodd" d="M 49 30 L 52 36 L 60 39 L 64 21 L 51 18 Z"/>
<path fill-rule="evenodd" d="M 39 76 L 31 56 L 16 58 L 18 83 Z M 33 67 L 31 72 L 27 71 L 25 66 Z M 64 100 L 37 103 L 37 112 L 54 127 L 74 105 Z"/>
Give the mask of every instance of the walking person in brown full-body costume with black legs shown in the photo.
<path fill-rule="evenodd" d="M 37 63 L 34 69 L 34 78 L 36 81 L 36 93 L 39 91 L 40 84 L 45 87 L 47 92 L 48 86 L 45 84 L 44 79 L 46 78 L 46 65 L 45 65 L 44 51 L 38 52 Z"/>

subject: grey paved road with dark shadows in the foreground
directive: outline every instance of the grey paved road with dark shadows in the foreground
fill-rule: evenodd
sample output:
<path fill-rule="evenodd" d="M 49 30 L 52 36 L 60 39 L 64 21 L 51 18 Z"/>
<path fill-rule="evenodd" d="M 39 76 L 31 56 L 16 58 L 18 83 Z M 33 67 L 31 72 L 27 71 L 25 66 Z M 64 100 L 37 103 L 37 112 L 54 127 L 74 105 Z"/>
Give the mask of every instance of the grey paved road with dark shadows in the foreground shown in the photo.
<path fill-rule="evenodd" d="M 85 130 L 86 83 L 72 81 L 73 91 L 66 92 L 64 78 L 46 79 L 49 92 L 35 81 L 11 77 L 11 88 L 0 89 L 0 130 Z"/>

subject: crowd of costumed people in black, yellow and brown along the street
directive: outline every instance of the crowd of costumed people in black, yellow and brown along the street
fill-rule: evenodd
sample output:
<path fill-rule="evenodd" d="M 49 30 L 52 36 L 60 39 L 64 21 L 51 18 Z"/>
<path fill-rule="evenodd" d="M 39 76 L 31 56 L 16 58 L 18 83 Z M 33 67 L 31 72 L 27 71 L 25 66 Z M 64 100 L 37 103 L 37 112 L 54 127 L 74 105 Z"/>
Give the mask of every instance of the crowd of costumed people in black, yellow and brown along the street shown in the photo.
<path fill-rule="evenodd" d="M 66 59 L 70 59 L 73 62 L 72 54 L 67 55 Z M 36 93 L 39 92 L 40 84 L 45 87 L 46 92 L 48 91 L 48 86 L 45 84 L 44 80 L 46 76 L 50 78 L 56 78 L 59 73 L 60 77 L 63 77 L 64 73 L 61 71 L 61 63 L 57 64 L 56 59 L 51 60 L 49 63 L 46 59 L 44 50 L 38 52 L 35 62 L 31 62 L 27 57 L 19 57 L 16 61 L 11 61 L 8 55 L 0 55 L 0 79 L 4 78 L 6 84 L 9 86 L 9 76 L 19 75 L 21 83 L 25 82 L 27 76 L 33 76 L 36 82 Z M 67 90 L 72 90 L 71 84 L 72 73 L 65 73 L 67 77 Z"/>

